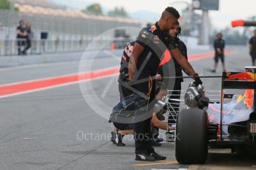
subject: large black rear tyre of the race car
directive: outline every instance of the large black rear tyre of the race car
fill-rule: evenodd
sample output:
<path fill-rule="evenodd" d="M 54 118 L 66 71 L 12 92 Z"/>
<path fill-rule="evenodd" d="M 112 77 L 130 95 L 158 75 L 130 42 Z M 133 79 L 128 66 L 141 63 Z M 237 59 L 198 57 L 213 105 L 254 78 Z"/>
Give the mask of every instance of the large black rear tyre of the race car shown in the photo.
<path fill-rule="evenodd" d="M 176 125 L 175 155 L 179 163 L 205 163 L 208 154 L 208 116 L 201 109 L 180 111 Z"/>

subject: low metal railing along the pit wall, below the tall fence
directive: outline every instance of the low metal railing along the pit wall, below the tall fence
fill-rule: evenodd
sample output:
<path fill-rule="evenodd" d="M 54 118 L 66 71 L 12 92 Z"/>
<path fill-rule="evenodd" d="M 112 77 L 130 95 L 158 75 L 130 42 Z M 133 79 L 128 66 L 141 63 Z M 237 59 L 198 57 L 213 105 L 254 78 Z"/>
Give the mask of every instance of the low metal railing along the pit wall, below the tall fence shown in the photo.
<path fill-rule="evenodd" d="M 19 41 L 19 45 L 18 45 Z M 98 39 L 98 40 L 32 40 L 31 47 L 27 50 L 27 55 L 40 55 L 44 53 L 58 52 L 82 52 L 84 50 L 114 50 L 122 49 L 131 39 L 118 40 Z M 22 44 L 22 45 L 21 45 Z M 18 48 L 21 51 L 27 47 L 26 39 L 0 41 L 0 56 L 18 55 Z M 114 48 L 114 49 L 113 49 Z"/>

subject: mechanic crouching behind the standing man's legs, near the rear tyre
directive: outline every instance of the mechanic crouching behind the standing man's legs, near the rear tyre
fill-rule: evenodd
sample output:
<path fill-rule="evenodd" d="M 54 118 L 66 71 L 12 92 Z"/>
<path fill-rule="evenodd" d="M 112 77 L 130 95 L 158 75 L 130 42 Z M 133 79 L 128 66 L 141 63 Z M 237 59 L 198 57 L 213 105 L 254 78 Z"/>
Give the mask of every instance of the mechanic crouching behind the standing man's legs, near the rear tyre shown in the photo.
<path fill-rule="evenodd" d="M 160 92 L 158 92 L 156 98 L 157 101 L 161 100 L 166 95 L 166 86 L 163 83 L 160 83 Z M 116 144 L 116 146 L 125 146 L 125 143 L 122 143 L 122 137 L 124 135 L 134 135 L 134 124 L 133 123 L 119 123 L 119 119 L 123 117 L 131 117 L 131 112 L 135 109 L 133 102 L 136 100 L 134 95 L 131 95 L 127 98 L 124 98 L 123 101 L 120 101 L 113 109 L 110 120 L 114 124 L 115 131 L 111 132 L 111 141 Z M 125 104 L 123 104 L 125 103 Z M 174 127 L 168 126 L 168 123 L 165 123 L 158 118 L 159 112 L 162 111 L 165 104 L 163 102 L 156 103 L 154 108 L 154 113 L 151 118 L 151 128 L 159 128 L 163 130 L 174 130 Z M 131 112 L 128 112 L 131 111 Z M 126 120 L 125 122 L 127 122 Z"/>

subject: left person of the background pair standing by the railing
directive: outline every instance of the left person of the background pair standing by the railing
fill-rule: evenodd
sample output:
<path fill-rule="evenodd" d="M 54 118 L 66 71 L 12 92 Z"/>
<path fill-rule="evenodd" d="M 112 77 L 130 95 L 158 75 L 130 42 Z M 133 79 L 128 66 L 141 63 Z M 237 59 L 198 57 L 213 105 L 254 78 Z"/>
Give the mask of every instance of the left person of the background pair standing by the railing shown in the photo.
<path fill-rule="evenodd" d="M 19 26 L 16 29 L 17 43 L 18 43 L 18 55 L 23 55 L 22 47 L 25 45 L 25 38 L 27 33 L 24 28 L 24 20 L 19 21 Z"/>

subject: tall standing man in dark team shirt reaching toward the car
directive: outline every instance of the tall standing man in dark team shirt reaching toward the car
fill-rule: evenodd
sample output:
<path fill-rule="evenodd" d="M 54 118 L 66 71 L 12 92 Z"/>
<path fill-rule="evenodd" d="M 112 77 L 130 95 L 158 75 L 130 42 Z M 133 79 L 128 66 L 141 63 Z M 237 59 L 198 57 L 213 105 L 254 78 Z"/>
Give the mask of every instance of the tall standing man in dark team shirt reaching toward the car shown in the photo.
<path fill-rule="evenodd" d="M 174 43 L 170 43 L 171 38 L 168 35 L 168 31 L 174 27 L 178 18 L 180 18 L 180 14 L 177 10 L 174 7 L 167 7 L 156 24 L 140 32 L 134 45 L 128 67 L 129 79 L 133 83 L 134 91 L 149 95 L 149 101 L 154 100 L 156 93 L 156 80 L 154 77 L 157 75 L 160 57 L 166 50 L 166 47 L 165 50 L 161 49 L 163 48 L 160 45 L 161 43 L 168 46 L 168 49 L 171 50 L 171 54 L 174 55 L 178 63 L 194 76 L 196 83 L 202 84 L 197 73 L 194 72 L 194 69 L 180 53 L 180 50 L 177 49 L 177 46 Z M 151 89 L 148 87 L 150 77 L 153 78 Z M 148 94 L 148 92 L 150 93 Z M 154 161 L 166 159 L 166 157 L 154 152 L 151 146 L 150 120 L 151 118 L 148 118 L 147 120 L 134 123 L 135 160 Z"/>

